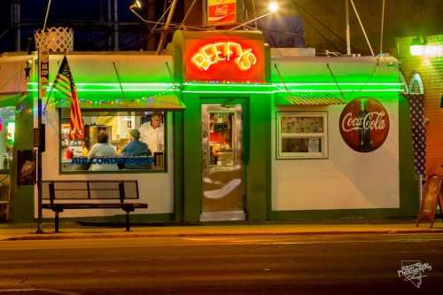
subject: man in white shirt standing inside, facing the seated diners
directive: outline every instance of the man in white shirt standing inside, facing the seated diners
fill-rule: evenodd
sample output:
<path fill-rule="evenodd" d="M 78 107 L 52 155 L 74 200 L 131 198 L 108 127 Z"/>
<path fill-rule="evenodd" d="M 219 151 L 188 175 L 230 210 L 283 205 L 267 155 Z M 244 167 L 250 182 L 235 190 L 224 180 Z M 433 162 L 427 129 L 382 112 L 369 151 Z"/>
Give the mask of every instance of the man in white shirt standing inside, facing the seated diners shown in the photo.
<path fill-rule="evenodd" d="M 161 123 L 161 113 L 152 113 L 151 120 L 142 124 L 138 131 L 140 131 L 140 141 L 148 144 L 152 154 L 163 151 L 165 129 Z"/>

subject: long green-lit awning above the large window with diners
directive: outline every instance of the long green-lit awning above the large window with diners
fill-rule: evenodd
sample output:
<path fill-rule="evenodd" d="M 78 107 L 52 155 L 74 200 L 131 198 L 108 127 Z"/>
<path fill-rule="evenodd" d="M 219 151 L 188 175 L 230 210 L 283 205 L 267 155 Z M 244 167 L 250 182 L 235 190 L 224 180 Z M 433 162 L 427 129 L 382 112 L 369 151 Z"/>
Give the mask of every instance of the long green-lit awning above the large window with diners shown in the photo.
<path fill-rule="evenodd" d="M 70 107 L 69 98 L 61 97 L 59 93 L 55 96 L 57 107 Z M 61 97 L 61 98 L 60 98 Z M 178 93 L 167 92 L 151 96 L 143 96 L 129 93 L 119 97 L 104 96 L 100 99 L 85 99 L 79 94 L 80 105 L 85 109 L 156 109 L 167 111 L 183 111 L 184 105 Z M 52 98 L 54 99 L 54 98 Z"/>

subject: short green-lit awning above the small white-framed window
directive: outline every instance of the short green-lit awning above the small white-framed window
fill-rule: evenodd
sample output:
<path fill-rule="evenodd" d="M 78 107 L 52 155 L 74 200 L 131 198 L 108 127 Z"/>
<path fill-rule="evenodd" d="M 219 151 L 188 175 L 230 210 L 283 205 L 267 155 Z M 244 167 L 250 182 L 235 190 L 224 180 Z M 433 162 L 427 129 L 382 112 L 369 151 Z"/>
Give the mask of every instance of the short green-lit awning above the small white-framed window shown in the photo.
<path fill-rule="evenodd" d="M 276 105 L 343 105 L 345 100 L 327 93 L 298 94 L 276 93 Z"/>

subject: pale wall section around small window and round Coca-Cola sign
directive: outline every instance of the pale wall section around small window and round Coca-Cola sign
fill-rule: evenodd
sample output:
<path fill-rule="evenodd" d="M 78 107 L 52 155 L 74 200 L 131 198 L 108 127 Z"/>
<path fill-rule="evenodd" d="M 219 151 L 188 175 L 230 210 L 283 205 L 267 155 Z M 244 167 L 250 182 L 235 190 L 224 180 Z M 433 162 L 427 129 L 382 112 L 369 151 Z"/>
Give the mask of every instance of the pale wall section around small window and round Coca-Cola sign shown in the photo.
<path fill-rule="evenodd" d="M 272 210 L 398 208 L 399 105 L 379 100 L 389 113 L 390 130 L 376 151 L 352 150 L 338 120 L 345 105 L 284 107 L 284 112 L 327 112 L 329 159 L 276 159 L 276 112 L 272 128 Z"/>

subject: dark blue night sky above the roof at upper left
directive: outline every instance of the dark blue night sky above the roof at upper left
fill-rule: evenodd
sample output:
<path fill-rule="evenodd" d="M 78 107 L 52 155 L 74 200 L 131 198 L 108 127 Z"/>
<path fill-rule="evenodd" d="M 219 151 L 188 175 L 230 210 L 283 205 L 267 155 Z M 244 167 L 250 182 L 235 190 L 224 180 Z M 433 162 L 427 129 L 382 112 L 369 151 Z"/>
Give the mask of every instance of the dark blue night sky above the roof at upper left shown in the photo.
<path fill-rule="evenodd" d="M 0 0 L 0 36 L 11 27 L 11 2 Z M 156 11 L 162 11 L 163 2 L 157 1 Z M 35 28 L 43 27 L 46 3 L 45 0 L 21 0 L 22 50 L 27 50 L 27 38 Z M 129 11 L 129 4 L 132 0 L 118 0 L 119 21 L 136 22 L 120 27 L 120 50 L 142 50 L 146 46 L 146 27 Z M 106 7 L 107 0 L 52 0 L 47 26 L 74 27 L 74 50 L 109 50 L 108 36 L 113 34 L 113 29 L 98 24 L 100 19 L 107 18 Z M 14 49 L 14 30 L 9 29 L 0 39 L 0 52 Z"/>

